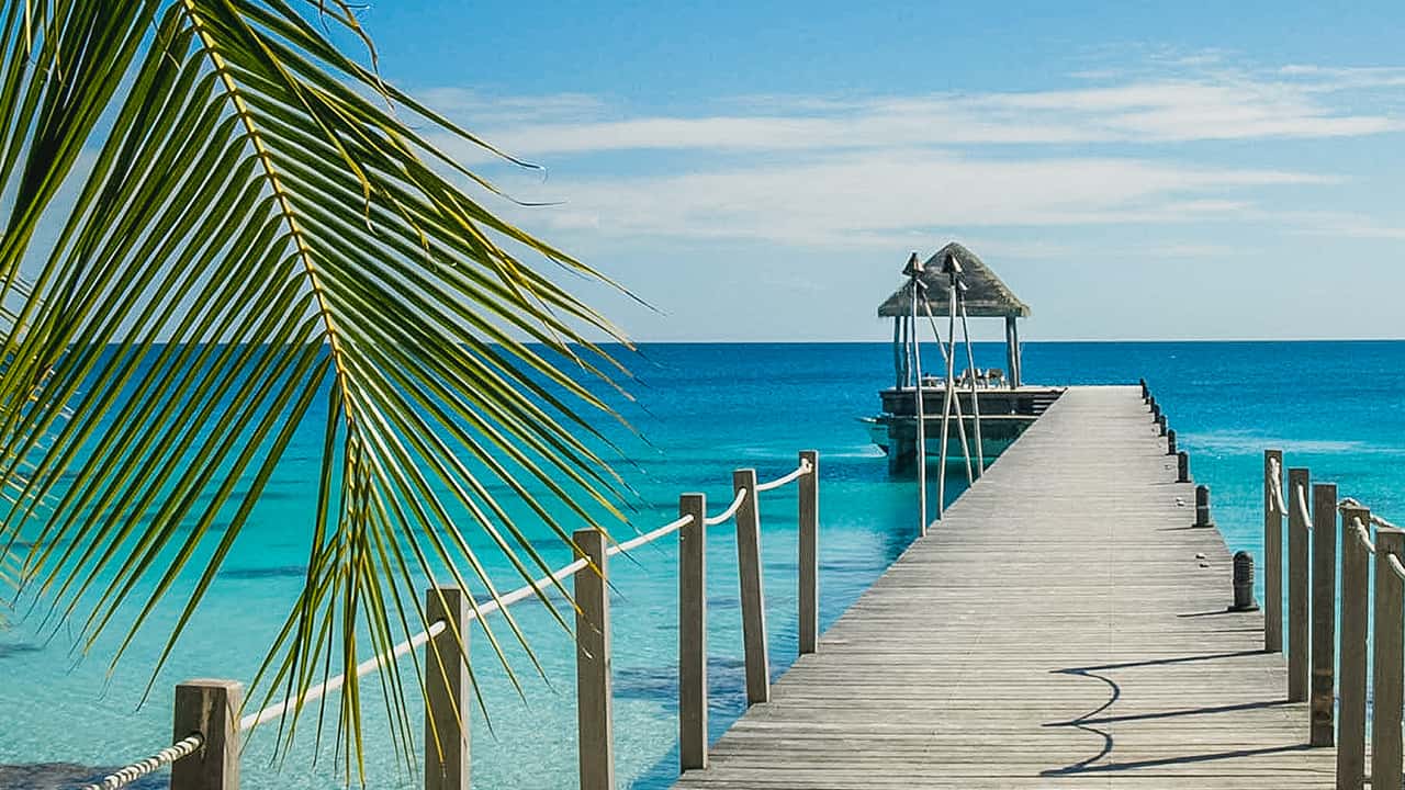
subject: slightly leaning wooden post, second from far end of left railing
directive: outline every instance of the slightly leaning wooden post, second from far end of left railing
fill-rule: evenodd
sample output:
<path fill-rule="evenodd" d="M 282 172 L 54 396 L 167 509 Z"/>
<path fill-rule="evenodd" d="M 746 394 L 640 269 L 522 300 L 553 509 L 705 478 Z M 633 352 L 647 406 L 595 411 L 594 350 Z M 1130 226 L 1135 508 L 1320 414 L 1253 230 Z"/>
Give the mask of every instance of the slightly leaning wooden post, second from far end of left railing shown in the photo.
<path fill-rule="evenodd" d="M 746 663 L 746 704 L 771 699 L 771 662 L 766 654 L 766 590 L 762 585 L 762 513 L 756 498 L 756 470 L 732 472 L 733 493 L 746 492 L 736 509 L 736 575 L 742 602 L 742 651 Z"/>

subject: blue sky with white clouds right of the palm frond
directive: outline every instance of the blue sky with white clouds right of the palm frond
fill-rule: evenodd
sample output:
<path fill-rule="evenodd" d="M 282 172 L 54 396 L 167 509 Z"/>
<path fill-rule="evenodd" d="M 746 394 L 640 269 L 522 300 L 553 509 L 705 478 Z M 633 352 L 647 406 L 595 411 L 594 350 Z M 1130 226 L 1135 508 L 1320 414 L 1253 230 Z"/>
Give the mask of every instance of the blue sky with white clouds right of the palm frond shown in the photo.
<path fill-rule="evenodd" d="M 1030 339 L 1401 337 L 1399 3 L 372 3 L 641 340 L 865 340 L 960 239 Z M 998 328 L 988 328 L 998 335 Z"/>

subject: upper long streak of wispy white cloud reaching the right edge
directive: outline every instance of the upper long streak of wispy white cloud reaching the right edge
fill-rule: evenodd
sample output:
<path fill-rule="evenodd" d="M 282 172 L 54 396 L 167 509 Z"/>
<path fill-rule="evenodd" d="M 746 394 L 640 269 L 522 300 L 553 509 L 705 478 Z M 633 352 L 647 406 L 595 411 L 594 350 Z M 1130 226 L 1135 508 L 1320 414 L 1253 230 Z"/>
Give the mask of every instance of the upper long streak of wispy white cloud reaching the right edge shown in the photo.
<path fill-rule="evenodd" d="M 940 145 L 1176 143 L 1361 136 L 1405 128 L 1353 111 L 1343 91 L 1405 84 L 1405 69 L 1284 66 L 1162 79 L 1137 77 L 1044 91 L 940 93 L 865 98 L 763 97 L 745 112 L 618 111 L 575 94 L 492 101 L 430 91 L 482 136 L 527 157 L 611 150 L 833 150 Z M 572 115 L 570 121 L 563 115 Z M 611 117 L 615 115 L 615 117 Z M 516 118 L 516 122 L 503 122 Z M 462 149 L 465 157 L 486 157 Z"/>

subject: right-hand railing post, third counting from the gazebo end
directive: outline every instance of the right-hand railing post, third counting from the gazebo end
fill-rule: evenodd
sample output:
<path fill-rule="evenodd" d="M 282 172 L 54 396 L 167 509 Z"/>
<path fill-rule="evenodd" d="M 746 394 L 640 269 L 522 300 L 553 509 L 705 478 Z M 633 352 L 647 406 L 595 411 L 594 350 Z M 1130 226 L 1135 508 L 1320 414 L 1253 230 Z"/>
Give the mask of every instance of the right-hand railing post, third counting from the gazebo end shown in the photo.
<path fill-rule="evenodd" d="M 1331 746 L 1336 703 L 1336 485 L 1312 486 L 1312 679 L 1308 742 Z"/>

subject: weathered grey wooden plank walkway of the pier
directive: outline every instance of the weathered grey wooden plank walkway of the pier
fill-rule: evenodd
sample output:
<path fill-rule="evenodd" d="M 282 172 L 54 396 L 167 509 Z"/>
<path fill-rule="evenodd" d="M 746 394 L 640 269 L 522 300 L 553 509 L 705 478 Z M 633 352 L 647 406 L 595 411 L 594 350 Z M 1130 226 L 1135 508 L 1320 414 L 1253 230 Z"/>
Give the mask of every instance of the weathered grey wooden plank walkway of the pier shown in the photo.
<path fill-rule="evenodd" d="M 677 787 L 1331 787 L 1193 520 L 1138 388 L 1071 388 Z"/>

